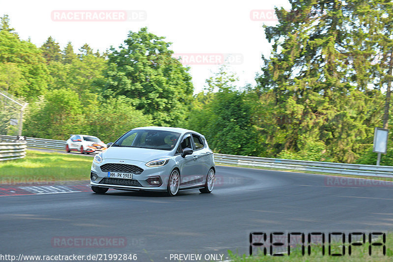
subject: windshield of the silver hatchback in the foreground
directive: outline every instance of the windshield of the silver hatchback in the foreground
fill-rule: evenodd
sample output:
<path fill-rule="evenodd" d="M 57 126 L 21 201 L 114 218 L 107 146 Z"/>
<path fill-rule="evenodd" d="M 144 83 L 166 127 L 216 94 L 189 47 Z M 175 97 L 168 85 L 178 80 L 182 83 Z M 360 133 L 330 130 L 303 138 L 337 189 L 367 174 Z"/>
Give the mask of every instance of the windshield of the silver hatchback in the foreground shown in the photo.
<path fill-rule="evenodd" d="M 180 133 L 162 130 L 131 130 L 112 146 L 172 150 Z"/>

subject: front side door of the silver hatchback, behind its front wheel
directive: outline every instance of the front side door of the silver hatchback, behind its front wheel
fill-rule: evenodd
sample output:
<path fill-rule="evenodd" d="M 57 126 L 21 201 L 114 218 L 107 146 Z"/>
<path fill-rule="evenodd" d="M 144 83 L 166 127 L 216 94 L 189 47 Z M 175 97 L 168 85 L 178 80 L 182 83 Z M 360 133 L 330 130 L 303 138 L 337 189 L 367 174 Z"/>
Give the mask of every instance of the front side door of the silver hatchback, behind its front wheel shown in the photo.
<path fill-rule="evenodd" d="M 182 140 L 176 150 L 176 161 L 179 162 L 180 166 L 180 188 L 190 187 L 195 184 L 195 180 L 197 177 L 196 168 L 196 159 L 193 155 L 188 155 L 185 157 L 181 156 L 183 149 L 185 148 L 193 148 L 193 141 L 191 138 L 191 134 L 185 134 L 182 137 Z"/>

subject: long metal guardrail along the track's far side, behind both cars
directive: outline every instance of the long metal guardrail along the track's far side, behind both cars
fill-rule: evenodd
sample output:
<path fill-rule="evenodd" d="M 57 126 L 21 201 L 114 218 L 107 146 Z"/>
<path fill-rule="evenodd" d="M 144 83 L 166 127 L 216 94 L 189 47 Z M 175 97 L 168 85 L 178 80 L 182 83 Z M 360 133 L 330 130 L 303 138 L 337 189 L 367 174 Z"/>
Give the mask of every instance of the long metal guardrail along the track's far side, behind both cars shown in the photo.
<path fill-rule="evenodd" d="M 13 141 L 15 138 L 15 136 L 11 135 L 0 135 L 0 139 L 2 140 Z M 35 147 L 65 150 L 64 140 L 43 139 L 35 137 L 27 137 L 26 140 L 27 146 L 30 148 Z M 393 166 L 343 164 L 266 157 L 245 157 L 223 154 L 214 154 L 214 160 L 217 164 L 235 164 L 242 166 L 393 178 Z"/>

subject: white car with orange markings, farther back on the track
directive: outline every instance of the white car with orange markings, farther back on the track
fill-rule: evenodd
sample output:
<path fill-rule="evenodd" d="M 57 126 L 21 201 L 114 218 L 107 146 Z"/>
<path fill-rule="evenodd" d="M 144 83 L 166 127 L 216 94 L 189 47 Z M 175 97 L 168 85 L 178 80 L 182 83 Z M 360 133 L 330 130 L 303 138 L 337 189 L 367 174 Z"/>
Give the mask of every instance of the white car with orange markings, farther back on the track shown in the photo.
<path fill-rule="evenodd" d="M 81 154 L 100 153 L 107 149 L 107 145 L 96 136 L 73 134 L 66 141 L 65 151 L 78 151 Z"/>

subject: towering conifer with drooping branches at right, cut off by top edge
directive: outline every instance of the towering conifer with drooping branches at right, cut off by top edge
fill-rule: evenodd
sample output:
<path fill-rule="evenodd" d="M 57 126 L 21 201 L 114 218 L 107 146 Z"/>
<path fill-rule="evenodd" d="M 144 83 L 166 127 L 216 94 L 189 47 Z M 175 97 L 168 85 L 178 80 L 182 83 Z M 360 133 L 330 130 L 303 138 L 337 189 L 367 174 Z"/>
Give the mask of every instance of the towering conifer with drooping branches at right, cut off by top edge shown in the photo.
<path fill-rule="evenodd" d="M 273 51 L 257 79 L 265 86 L 257 91 L 273 95 L 273 121 L 262 129 L 274 136 L 275 154 L 321 140 L 339 161 L 351 162 L 365 149 L 370 126 L 380 116 L 375 105 L 381 92 L 367 87 L 369 62 L 363 62 L 372 51 L 361 47 L 362 31 L 349 15 L 352 4 L 291 4 L 290 11 L 276 10 L 278 26 L 265 26 Z"/>

